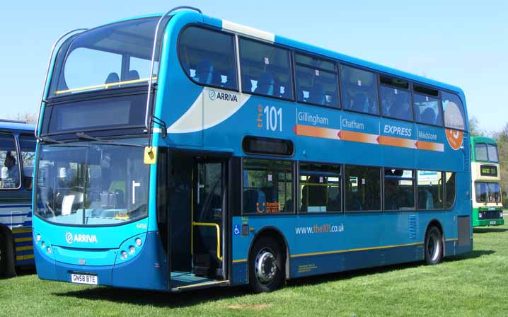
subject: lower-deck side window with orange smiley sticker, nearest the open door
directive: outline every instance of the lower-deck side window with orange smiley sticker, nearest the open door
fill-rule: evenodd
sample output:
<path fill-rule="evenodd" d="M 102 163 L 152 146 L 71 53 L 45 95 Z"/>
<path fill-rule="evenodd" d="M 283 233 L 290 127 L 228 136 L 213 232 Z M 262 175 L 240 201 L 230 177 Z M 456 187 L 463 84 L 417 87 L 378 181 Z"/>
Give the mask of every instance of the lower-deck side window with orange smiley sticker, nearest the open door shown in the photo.
<path fill-rule="evenodd" d="M 243 160 L 243 214 L 294 212 L 289 161 Z"/>

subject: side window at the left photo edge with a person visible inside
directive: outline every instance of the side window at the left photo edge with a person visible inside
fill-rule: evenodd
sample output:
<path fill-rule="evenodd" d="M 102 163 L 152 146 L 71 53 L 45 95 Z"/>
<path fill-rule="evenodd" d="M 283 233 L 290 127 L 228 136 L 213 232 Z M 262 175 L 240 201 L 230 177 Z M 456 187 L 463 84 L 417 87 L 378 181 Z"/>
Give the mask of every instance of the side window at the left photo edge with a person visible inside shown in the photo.
<path fill-rule="evenodd" d="M 0 188 L 19 188 L 18 152 L 16 151 L 16 140 L 11 134 L 0 134 L 0 171 Z"/>

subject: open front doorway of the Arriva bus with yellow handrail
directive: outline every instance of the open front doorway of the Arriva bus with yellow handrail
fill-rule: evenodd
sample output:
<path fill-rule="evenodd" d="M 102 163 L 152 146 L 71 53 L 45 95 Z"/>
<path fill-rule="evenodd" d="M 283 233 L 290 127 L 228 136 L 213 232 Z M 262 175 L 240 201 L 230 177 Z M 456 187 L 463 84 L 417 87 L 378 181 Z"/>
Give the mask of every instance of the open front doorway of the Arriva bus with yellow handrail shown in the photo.
<path fill-rule="evenodd" d="M 172 152 L 166 164 L 168 197 L 159 208 L 167 220 L 161 221 L 159 210 L 158 223 L 171 272 L 168 287 L 178 292 L 226 284 L 228 160 Z"/>

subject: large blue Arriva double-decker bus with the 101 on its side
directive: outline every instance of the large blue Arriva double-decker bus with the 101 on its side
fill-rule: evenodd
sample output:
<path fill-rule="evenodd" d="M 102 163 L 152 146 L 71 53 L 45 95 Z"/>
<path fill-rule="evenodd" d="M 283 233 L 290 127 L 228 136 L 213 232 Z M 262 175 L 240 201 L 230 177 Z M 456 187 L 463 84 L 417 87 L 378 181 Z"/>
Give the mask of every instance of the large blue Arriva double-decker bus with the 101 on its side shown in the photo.
<path fill-rule="evenodd" d="M 473 247 L 455 86 L 187 8 L 66 33 L 44 91 L 42 279 L 268 292 Z"/>

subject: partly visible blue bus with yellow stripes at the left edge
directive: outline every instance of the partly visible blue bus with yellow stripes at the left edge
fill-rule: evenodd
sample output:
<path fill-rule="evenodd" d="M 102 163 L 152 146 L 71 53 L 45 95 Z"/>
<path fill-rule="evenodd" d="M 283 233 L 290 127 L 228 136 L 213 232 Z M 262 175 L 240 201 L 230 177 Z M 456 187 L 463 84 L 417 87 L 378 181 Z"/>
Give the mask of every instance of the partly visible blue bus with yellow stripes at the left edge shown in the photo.
<path fill-rule="evenodd" d="M 0 119 L 0 277 L 33 266 L 34 125 Z"/>

